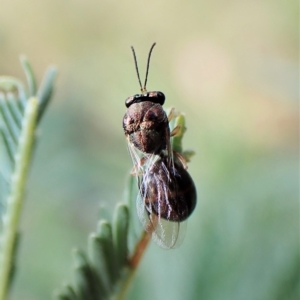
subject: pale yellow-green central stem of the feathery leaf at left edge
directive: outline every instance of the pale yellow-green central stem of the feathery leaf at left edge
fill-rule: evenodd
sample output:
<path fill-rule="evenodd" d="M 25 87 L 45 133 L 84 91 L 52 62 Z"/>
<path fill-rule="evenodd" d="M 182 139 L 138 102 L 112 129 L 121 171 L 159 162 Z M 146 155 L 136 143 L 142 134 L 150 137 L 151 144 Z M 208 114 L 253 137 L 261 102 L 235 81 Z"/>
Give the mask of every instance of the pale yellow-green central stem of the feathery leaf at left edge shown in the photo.
<path fill-rule="evenodd" d="M 5 300 L 8 292 L 25 182 L 34 140 L 37 112 L 38 100 L 32 97 L 26 104 L 19 140 L 19 150 L 16 155 L 16 169 L 12 176 L 7 211 L 3 217 L 3 240 L 1 241 L 2 249 L 0 249 L 0 300 Z"/>

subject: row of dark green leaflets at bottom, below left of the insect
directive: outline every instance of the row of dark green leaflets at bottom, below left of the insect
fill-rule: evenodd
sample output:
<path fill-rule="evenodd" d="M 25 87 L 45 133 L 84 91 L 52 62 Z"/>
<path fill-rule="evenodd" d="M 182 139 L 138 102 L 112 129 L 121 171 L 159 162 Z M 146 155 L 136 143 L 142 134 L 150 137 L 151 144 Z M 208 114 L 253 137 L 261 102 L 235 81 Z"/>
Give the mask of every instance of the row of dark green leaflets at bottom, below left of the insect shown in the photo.
<path fill-rule="evenodd" d="M 88 251 L 74 254 L 73 284 L 65 285 L 57 299 L 111 299 L 128 267 L 129 210 L 119 203 L 112 224 L 100 220 L 97 230 L 88 238 Z"/>

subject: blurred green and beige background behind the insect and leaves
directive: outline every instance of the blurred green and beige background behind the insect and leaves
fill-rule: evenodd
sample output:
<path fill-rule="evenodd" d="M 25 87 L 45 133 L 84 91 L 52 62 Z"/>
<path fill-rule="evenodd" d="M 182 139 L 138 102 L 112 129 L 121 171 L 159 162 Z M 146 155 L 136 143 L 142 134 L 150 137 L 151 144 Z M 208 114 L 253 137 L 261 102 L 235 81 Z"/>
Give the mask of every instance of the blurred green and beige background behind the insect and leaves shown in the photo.
<path fill-rule="evenodd" d="M 86 248 L 98 207 L 123 199 L 122 129 L 148 90 L 185 112 L 198 204 L 183 245 L 147 250 L 128 299 L 298 299 L 298 2 L 0 2 L 0 73 L 59 68 L 40 126 L 12 300 L 51 299 Z M 142 79 L 143 80 L 143 79 Z"/>

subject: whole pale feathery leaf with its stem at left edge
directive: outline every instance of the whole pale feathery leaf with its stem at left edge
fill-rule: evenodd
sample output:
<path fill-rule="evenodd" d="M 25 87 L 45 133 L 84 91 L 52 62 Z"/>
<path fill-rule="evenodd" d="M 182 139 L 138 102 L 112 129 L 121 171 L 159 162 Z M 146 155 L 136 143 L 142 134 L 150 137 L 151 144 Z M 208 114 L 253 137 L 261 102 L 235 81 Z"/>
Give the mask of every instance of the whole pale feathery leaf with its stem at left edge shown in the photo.
<path fill-rule="evenodd" d="M 24 189 L 35 130 L 49 102 L 56 71 L 50 68 L 41 87 L 25 57 L 21 64 L 28 89 L 21 81 L 0 76 L 0 299 L 4 300 L 15 270 L 14 256 Z"/>

